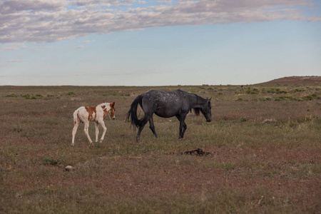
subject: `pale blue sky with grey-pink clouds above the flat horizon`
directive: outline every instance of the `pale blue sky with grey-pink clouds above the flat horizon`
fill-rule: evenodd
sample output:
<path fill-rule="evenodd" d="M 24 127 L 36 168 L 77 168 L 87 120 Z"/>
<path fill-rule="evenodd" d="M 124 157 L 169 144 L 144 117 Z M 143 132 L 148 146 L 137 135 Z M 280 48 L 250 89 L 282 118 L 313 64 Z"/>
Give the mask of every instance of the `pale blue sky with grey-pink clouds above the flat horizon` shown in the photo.
<path fill-rule="evenodd" d="M 0 0 L 0 85 L 321 76 L 321 0 Z"/>

